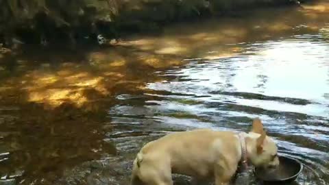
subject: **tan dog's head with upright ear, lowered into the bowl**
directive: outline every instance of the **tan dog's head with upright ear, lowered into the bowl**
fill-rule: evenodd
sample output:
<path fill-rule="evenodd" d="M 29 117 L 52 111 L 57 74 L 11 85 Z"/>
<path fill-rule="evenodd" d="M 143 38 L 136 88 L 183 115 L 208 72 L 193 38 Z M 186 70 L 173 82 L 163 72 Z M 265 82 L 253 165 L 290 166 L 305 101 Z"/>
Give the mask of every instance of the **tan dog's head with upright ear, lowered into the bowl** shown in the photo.
<path fill-rule="evenodd" d="M 250 145 L 249 159 L 255 167 L 275 168 L 279 165 L 278 147 L 274 140 L 266 135 L 260 119 L 254 119 L 252 130 L 249 132 Z"/>

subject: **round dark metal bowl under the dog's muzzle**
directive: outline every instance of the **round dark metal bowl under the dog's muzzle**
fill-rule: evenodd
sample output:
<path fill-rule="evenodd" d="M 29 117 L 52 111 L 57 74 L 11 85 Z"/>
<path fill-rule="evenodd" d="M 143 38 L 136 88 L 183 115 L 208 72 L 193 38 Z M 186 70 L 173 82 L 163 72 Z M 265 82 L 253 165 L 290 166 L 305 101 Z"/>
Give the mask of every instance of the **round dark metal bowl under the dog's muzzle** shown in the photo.
<path fill-rule="evenodd" d="M 303 164 L 293 158 L 279 156 L 280 165 L 276 169 L 266 171 L 265 169 L 254 169 L 256 177 L 265 184 L 285 184 L 296 180 L 303 170 Z"/>

